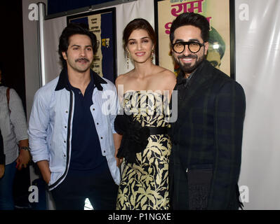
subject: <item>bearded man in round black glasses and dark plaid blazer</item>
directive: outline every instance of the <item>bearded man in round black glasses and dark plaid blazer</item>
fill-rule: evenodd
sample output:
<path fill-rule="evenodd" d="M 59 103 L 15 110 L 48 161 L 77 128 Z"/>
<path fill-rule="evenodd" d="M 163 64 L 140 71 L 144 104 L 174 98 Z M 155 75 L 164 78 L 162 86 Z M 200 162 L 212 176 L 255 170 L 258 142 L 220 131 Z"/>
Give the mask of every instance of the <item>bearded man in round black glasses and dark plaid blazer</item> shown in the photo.
<path fill-rule="evenodd" d="M 171 123 L 170 190 L 173 209 L 238 209 L 246 100 L 244 90 L 205 57 L 209 23 L 183 13 L 171 26 L 180 66 L 178 119 Z M 174 102 L 173 102 L 174 103 Z"/>

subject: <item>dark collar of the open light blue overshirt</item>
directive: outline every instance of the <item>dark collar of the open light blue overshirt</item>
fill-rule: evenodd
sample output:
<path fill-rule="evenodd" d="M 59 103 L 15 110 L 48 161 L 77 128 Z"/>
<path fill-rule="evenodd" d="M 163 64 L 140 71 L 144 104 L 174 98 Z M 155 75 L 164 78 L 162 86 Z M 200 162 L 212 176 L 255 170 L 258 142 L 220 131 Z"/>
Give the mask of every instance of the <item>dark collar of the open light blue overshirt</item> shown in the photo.
<path fill-rule="evenodd" d="M 98 76 L 98 74 L 95 73 L 93 70 L 91 70 L 91 78 L 92 78 L 93 83 L 95 84 L 95 86 L 100 91 L 103 90 L 103 87 L 102 87 L 101 84 L 107 84 L 107 82 L 103 78 Z M 66 90 L 68 90 L 68 91 L 71 90 L 71 87 L 69 85 L 67 68 L 62 69 L 62 71 L 60 72 L 60 76 L 59 76 L 59 79 L 58 79 L 58 85 L 56 85 L 55 91 L 62 90 L 64 88 Z"/>

